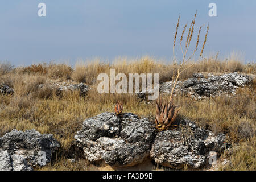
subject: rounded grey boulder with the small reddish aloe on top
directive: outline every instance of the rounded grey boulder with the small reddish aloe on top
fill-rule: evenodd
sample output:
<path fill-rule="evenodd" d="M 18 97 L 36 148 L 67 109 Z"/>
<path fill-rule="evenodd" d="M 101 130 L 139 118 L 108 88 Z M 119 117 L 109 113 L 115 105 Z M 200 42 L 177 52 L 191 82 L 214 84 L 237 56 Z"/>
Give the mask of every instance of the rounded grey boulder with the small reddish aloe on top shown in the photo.
<path fill-rule="evenodd" d="M 154 124 L 132 113 L 102 113 L 86 119 L 77 131 L 77 146 L 94 164 L 134 166 L 150 155 Z"/>

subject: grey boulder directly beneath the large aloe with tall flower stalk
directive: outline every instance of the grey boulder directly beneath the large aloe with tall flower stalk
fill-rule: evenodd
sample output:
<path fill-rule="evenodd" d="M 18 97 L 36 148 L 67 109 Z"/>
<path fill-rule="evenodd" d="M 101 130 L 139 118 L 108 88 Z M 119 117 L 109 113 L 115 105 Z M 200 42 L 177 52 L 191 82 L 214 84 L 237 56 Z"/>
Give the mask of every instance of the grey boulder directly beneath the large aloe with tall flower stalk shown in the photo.
<path fill-rule="evenodd" d="M 156 163 L 171 168 L 192 168 L 207 164 L 210 151 L 221 151 L 225 135 L 214 135 L 188 119 L 180 119 L 177 130 L 166 130 L 156 135 L 150 156 Z"/>

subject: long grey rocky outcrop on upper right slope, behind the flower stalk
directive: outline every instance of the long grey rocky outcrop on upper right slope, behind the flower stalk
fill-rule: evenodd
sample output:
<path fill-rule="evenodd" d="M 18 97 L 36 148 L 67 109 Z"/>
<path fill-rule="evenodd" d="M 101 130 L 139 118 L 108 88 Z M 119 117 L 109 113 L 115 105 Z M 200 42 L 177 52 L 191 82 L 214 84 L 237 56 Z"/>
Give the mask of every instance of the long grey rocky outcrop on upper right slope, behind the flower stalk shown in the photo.
<path fill-rule="evenodd" d="M 178 81 L 175 93 L 189 94 L 194 98 L 214 97 L 220 94 L 236 94 L 236 89 L 250 85 L 252 77 L 239 73 L 226 73 L 224 75 L 213 75 L 208 73 L 195 73 L 192 78 Z M 174 81 L 164 82 L 160 85 L 160 93 L 170 94 Z"/>

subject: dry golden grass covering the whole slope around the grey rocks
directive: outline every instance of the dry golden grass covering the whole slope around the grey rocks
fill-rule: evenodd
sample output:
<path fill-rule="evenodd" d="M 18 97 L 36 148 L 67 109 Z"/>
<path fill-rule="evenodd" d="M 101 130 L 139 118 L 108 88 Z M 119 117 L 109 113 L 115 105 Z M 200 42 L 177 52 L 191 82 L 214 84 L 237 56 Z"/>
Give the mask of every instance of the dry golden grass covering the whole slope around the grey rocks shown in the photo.
<path fill-rule="evenodd" d="M 217 63 L 219 61 L 214 58 L 197 61 L 195 67 L 184 72 L 181 78 L 188 78 L 193 72 L 226 72 L 226 70 L 237 71 L 238 68 L 241 72 L 247 73 L 246 65 L 242 63 L 237 64 L 232 61 Z M 77 78 L 79 82 L 85 78 L 85 82 L 93 83 L 98 73 L 109 73 L 110 68 L 124 73 L 160 73 L 162 81 L 172 79 L 172 74 L 175 74 L 172 64 L 158 63 L 150 57 L 133 61 L 119 60 L 114 64 L 100 63 L 100 61 L 77 64 L 75 71 L 70 68 L 68 65 L 56 64 L 51 67 L 51 71 L 47 66 L 46 73 L 16 71 L 0 76 L 0 82 L 5 82 L 14 88 L 14 94 L 11 96 L 0 95 L 0 135 L 12 129 L 36 129 L 40 133 L 52 133 L 61 143 L 62 156 L 41 169 L 90 169 L 85 167 L 87 164 L 85 165 L 82 159 L 75 163 L 67 162 L 74 135 L 80 130 L 85 118 L 104 111 L 113 111 L 114 105 L 119 100 L 123 101 L 123 113 L 132 112 L 147 118 L 154 118 L 155 114 L 154 102 L 146 104 L 131 94 L 99 94 L 96 92 L 96 85 L 92 85 L 92 90 L 86 97 L 79 97 L 77 91 L 65 92 L 62 97 L 58 97 L 52 90 L 38 89 L 38 85 L 43 84 L 47 78 L 67 79 L 70 76 L 73 79 Z M 192 119 L 216 134 L 224 132 L 238 145 L 236 152 L 222 155 L 233 161 L 233 165 L 225 169 L 256 169 L 254 93 L 255 85 L 240 90 L 234 97 L 220 96 L 201 101 L 186 96 L 174 97 L 175 104 L 182 106 L 179 111 L 181 117 Z M 246 150 L 243 150 L 244 148 Z"/>

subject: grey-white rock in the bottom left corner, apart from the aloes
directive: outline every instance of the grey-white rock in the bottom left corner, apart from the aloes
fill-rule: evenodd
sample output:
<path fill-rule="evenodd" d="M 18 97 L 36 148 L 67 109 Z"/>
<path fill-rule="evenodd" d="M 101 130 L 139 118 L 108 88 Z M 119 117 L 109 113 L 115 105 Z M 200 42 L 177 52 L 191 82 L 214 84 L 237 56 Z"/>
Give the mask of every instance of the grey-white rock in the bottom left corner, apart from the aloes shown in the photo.
<path fill-rule="evenodd" d="M 52 134 L 12 130 L 0 137 L 0 171 L 26 171 L 49 163 L 60 147 Z"/>

